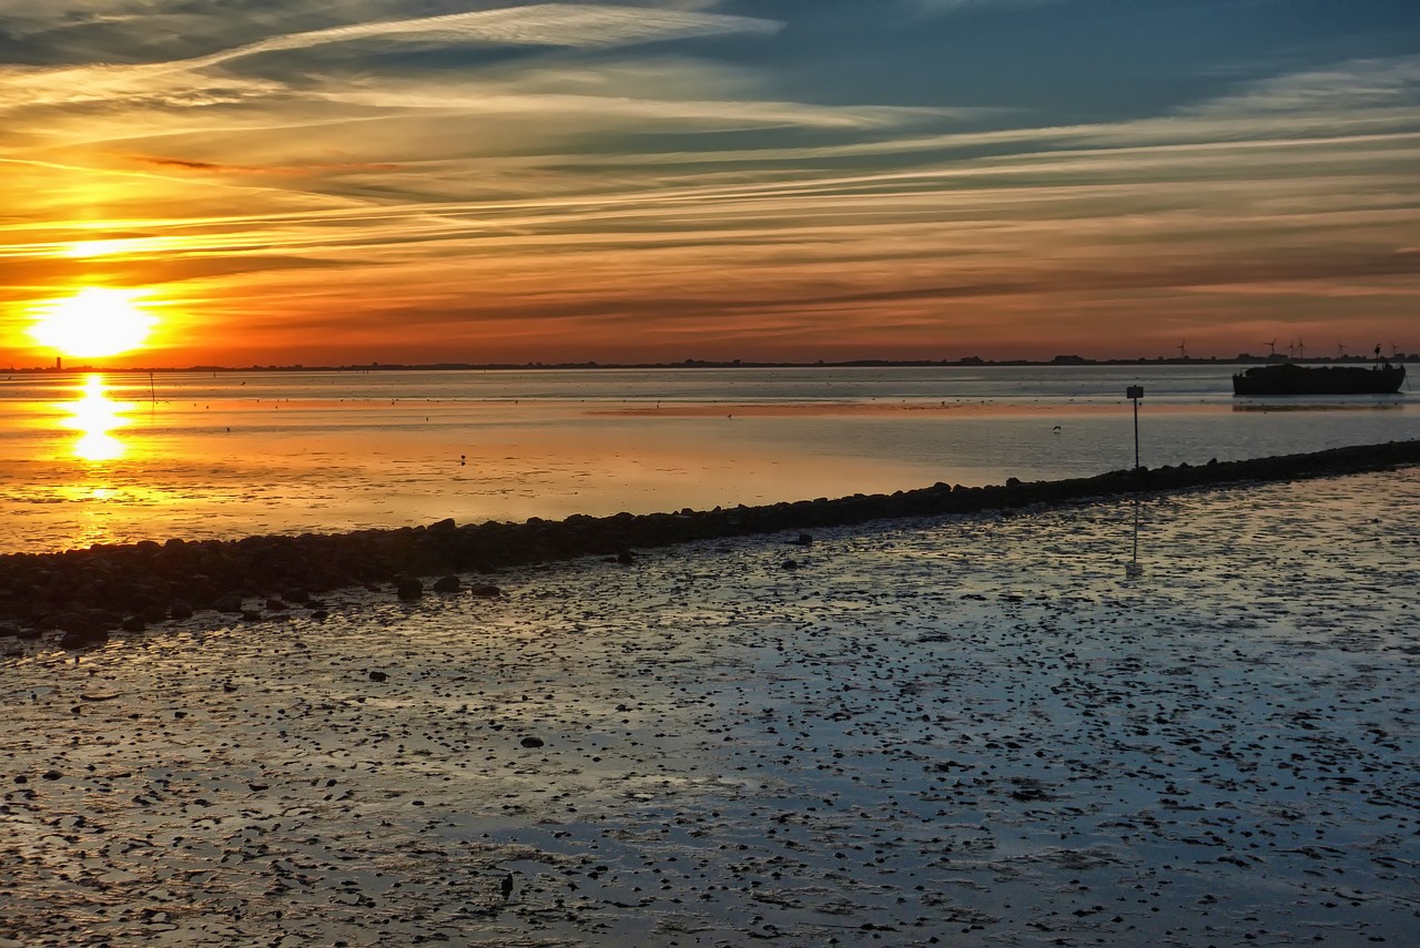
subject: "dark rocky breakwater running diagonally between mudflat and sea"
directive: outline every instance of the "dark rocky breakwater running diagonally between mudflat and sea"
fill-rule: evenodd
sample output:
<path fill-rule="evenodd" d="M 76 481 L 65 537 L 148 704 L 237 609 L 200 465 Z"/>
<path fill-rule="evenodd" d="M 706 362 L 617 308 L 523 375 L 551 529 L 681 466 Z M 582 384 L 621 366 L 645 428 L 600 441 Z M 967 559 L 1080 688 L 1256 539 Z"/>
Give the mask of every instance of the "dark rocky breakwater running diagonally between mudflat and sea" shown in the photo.
<path fill-rule="evenodd" d="M 885 495 L 855 494 L 764 507 L 683 509 L 679 514 L 618 514 L 532 518 L 523 524 L 427 527 L 237 541 L 169 539 L 95 545 L 60 553 L 0 556 L 0 654 L 48 643 L 65 649 L 101 644 L 109 633 L 141 633 L 185 620 L 197 610 L 246 619 L 304 609 L 317 619 L 312 593 L 366 586 L 400 599 L 430 592 L 496 596 L 496 586 L 470 586 L 457 576 L 588 555 L 635 561 L 636 548 L 696 539 L 772 534 L 863 524 L 902 517 L 1021 509 L 1244 481 L 1279 481 L 1375 471 L 1420 463 L 1420 441 L 1392 441 L 1247 461 L 1110 471 L 1098 477 L 1004 485 L 934 484 Z M 33 643 L 33 644 L 26 644 Z"/>

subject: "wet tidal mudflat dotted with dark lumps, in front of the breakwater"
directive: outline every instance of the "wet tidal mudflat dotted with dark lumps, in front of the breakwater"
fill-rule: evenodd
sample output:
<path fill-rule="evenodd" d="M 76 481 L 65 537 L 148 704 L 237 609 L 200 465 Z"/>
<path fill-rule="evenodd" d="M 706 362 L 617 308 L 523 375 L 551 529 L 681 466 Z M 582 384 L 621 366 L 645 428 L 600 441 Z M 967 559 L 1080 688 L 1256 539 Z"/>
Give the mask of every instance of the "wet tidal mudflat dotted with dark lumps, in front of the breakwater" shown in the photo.
<path fill-rule="evenodd" d="M 1416 522 L 1411 470 L 0 660 L 0 944 L 1413 944 Z"/>

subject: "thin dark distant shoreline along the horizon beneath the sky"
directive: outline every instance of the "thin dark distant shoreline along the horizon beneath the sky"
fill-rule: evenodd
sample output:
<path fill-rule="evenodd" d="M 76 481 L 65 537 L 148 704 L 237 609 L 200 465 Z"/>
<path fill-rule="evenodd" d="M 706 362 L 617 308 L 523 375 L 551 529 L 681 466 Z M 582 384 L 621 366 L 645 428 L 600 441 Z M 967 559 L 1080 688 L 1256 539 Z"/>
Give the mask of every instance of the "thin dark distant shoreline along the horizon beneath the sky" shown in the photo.
<path fill-rule="evenodd" d="M 1420 359 L 1407 352 L 1397 352 L 1389 356 L 1390 362 L 1403 363 Z M 1207 359 L 1194 358 L 1163 358 L 1156 359 L 1086 359 L 1075 355 L 1061 355 L 1054 359 L 981 359 L 966 356 L 961 359 L 846 359 L 839 362 L 746 362 L 733 359 L 727 362 L 710 359 L 686 359 L 683 362 L 435 362 L 435 363 L 383 363 L 371 362 L 365 365 L 192 365 L 192 366 L 128 366 L 112 368 L 101 365 L 65 365 L 65 366 L 24 366 L 9 368 L 3 372 L 10 375 L 82 375 L 89 372 L 112 373 L 195 373 L 195 372 L 334 372 L 334 373 L 371 373 L 371 372 L 567 372 L 567 370 L 628 370 L 628 369 L 983 369 L 983 368 L 1089 368 L 1089 366 L 1172 366 L 1172 368 L 1207 368 L 1233 365 L 1277 365 L 1295 362 L 1305 365 L 1375 365 L 1376 356 L 1340 356 L 1321 359 L 1289 359 L 1285 356 L 1254 356 L 1240 353 L 1233 358 Z"/>

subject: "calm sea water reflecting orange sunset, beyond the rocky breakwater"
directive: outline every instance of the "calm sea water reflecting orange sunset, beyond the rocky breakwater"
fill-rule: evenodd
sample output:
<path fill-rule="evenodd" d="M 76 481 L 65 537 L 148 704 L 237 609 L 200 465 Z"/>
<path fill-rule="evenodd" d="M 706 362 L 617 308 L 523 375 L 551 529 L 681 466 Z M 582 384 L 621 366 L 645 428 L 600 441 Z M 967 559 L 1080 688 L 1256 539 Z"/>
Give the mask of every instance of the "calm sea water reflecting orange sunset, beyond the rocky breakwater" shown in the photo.
<path fill-rule="evenodd" d="M 4 551 L 558 518 L 1420 437 L 1413 396 L 1238 400 L 1231 366 L 0 377 Z"/>

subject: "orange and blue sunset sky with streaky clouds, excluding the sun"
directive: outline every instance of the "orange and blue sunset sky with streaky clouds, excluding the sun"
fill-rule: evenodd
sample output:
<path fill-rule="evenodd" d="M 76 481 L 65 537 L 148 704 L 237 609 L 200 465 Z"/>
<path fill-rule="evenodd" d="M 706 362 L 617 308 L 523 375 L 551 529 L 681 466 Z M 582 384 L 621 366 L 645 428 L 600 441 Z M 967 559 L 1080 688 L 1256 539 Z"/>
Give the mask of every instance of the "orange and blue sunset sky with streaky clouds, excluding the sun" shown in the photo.
<path fill-rule="evenodd" d="M 0 0 L 0 365 L 1414 352 L 1420 3 Z"/>

